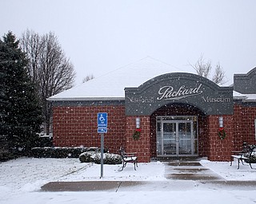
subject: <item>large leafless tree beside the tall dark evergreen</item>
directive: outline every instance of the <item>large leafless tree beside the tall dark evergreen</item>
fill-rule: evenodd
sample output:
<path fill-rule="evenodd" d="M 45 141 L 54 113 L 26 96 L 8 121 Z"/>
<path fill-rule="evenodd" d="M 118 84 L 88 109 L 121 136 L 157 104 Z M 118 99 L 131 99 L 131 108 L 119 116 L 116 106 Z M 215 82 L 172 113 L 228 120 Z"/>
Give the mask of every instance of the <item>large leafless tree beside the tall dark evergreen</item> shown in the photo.
<path fill-rule="evenodd" d="M 45 124 L 50 125 L 50 103 L 46 98 L 74 86 L 74 66 L 66 58 L 54 33 L 40 36 L 34 31 L 26 30 L 21 41 L 22 49 L 30 61 L 30 77 L 38 84 Z"/>

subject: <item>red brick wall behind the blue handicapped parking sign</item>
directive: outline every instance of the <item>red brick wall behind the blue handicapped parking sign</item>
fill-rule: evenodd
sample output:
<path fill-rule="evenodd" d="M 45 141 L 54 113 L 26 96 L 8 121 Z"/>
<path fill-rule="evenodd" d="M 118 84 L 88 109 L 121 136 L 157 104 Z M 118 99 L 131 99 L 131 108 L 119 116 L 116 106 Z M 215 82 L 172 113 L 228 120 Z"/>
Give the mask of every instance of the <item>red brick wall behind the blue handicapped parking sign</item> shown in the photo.
<path fill-rule="evenodd" d="M 108 113 L 108 132 L 104 134 L 104 147 L 117 153 L 125 144 L 126 116 L 123 105 L 54 107 L 55 147 L 100 147 L 98 112 Z"/>

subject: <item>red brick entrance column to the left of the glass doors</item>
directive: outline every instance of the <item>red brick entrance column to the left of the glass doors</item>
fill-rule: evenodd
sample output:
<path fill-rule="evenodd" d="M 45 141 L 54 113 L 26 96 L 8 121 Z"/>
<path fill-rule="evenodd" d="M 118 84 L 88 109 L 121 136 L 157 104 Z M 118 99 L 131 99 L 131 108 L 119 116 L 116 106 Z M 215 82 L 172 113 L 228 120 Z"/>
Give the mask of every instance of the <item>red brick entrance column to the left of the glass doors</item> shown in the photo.
<path fill-rule="evenodd" d="M 140 118 L 142 129 L 138 140 L 133 139 L 136 117 Z M 137 152 L 139 163 L 150 162 L 150 116 L 126 116 L 126 152 Z"/>

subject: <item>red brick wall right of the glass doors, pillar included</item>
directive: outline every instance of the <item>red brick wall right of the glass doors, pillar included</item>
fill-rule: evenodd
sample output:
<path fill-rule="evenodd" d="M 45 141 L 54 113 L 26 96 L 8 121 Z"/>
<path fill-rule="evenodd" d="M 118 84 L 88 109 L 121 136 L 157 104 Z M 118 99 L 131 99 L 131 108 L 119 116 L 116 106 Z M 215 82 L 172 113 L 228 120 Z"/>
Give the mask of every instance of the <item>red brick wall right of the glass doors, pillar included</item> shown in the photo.
<path fill-rule="evenodd" d="M 255 144 L 256 108 L 234 104 L 234 115 L 223 116 L 226 138 L 218 138 L 218 116 L 208 116 L 209 156 L 212 161 L 230 161 L 232 151 L 241 151 L 242 142 Z"/>

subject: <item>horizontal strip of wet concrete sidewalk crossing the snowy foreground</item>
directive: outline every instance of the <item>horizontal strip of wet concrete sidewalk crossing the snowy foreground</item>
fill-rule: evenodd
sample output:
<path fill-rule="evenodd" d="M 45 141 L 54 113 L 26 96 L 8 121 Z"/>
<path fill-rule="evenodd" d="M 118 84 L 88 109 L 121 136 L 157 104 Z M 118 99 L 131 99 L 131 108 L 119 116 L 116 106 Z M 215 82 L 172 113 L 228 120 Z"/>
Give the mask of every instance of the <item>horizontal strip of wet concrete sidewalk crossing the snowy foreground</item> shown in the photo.
<path fill-rule="evenodd" d="M 168 190 L 255 190 L 256 181 L 93 181 L 49 182 L 42 191 L 168 191 Z"/>

